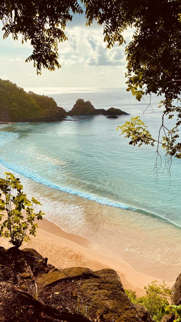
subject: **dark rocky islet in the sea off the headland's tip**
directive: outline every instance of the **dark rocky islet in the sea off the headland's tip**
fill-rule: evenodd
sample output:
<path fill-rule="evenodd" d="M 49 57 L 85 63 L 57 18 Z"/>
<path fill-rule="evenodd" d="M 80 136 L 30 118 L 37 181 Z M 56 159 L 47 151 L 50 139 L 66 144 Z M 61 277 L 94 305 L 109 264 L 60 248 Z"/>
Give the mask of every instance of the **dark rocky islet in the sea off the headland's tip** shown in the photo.
<path fill-rule="evenodd" d="M 95 109 L 90 101 L 84 102 L 83 99 L 78 99 L 71 109 L 68 112 L 70 116 L 80 116 L 80 115 L 129 115 L 128 113 L 121 111 L 120 109 L 110 108 L 108 110 L 105 109 Z"/>

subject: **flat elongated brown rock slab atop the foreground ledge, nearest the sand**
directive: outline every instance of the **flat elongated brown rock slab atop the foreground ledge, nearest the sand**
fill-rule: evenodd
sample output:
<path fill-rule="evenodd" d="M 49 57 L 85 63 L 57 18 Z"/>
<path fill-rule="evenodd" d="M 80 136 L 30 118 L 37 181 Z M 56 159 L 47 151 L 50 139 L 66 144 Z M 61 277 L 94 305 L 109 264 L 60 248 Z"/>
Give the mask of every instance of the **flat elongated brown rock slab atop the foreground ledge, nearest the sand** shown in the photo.
<path fill-rule="evenodd" d="M 66 268 L 64 270 L 55 270 L 47 274 L 43 274 L 41 277 L 37 279 L 37 284 L 40 288 L 42 288 L 52 284 L 56 284 L 63 279 L 81 279 L 89 278 L 90 276 L 93 276 L 93 272 L 88 268 Z"/>

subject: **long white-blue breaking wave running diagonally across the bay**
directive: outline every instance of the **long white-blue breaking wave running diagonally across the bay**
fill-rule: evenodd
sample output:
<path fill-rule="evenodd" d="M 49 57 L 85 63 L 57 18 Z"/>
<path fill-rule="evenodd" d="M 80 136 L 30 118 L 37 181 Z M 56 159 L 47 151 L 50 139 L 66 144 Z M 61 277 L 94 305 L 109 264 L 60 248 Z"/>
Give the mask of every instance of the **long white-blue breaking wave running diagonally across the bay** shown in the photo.
<path fill-rule="evenodd" d="M 46 179 L 42 178 L 39 175 L 30 173 L 30 172 L 22 169 L 21 167 L 17 166 L 16 164 L 12 164 L 12 163 L 9 163 L 7 161 L 4 161 L 1 158 L 0 158 L 0 163 L 3 166 L 5 166 L 7 169 L 16 172 L 19 175 L 23 175 L 24 177 L 26 177 L 28 179 L 31 179 L 31 180 L 33 180 L 33 181 L 35 181 L 37 183 L 42 184 L 42 185 L 49 186 L 49 187 L 51 187 L 53 189 L 57 189 L 57 190 L 60 190 L 62 192 L 66 192 L 66 193 L 69 193 L 69 194 L 74 194 L 74 195 L 77 195 L 77 196 L 79 196 L 81 198 L 85 198 L 85 199 L 89 199 L 91 201 L 95 201 L 98 204 L 103 204 L 103 205 L 107 205 L 107 206 L 110 206 L 110 207 L 116 207 L 116 208 L 121 208 L 121 209 L 129 209 L 129 210 L 132 210 L 132 211 L 135 211 L 135 212 L 138 212 L 138 213 L 143 213 L 145 215 L 149 215 L 151 217 L 163 220 L 165 223 L 172 224 L 172 225 L 174 225 L 174 226 L 176 226 L 178 228 L 181 228 L 181 226 L 179 224 L 177 224 L 177 223 L 173 222 L 172 220 L 170 220 L 168 218 L 165 218 L 165 217 L 163 217 L 163 216 L 161 216 L 161 215 L 159 215 L 157 213 L 148 212 L 148 211 L 146 211 L 144 209 L 136 208 L 136 207 L 133 207 L 133 206 L 130 206 L 130 205 L 127 205 L 127 204 L 122 204 L 122 203 L 114 201 L 114 200 L 110 200 L 110 199 L 106 199 L 106 198 L 100 198 L 100 197 L 98 197 L 98 196 L 96 196 L 94 194 L 81 192 L 79 190 L 74 190 L 74 189 L 71 189 L 71 188 L 68 188 L 68 187 L 62 187 L 60 185 L 52 183 L 49 180 L 46 180 Z"/>

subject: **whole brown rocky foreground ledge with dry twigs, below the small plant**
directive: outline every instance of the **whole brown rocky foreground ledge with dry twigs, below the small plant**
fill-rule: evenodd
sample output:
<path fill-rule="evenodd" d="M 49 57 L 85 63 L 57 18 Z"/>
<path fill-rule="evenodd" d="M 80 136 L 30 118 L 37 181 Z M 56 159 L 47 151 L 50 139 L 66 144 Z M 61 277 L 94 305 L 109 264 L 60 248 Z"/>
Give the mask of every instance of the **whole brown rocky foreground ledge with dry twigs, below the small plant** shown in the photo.
<path fill-rule="evenodd" d="M 0 321 L 152 321 L 131 303 L 114 270 L 62 270 L 47 260 L 33 249 L 0 247 Z"/>

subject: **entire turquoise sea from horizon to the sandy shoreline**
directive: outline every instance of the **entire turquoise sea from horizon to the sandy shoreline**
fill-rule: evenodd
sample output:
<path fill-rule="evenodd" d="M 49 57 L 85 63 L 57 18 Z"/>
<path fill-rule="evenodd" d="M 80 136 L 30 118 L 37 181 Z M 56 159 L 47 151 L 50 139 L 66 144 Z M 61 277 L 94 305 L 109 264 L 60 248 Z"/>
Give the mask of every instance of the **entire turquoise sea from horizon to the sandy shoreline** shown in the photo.
<path fill-rule="evenodd" d="M 130 115 L 2 125 L 0 175 L 7 169 L 18 174 L 25 192 L 39 198 L 46 218 L 64 231 L 103 246 L 137 271 L 157 276 L 165 269 L 172 279 L 181 264 L 175 256 L 181 251 L 180 160 L 173 159 L 169 174 L 160 147 L 157 174 L 156 148 L 132 147 L 116 131 L 139 115 L 157 138 L 160 97 L 153 96 L 148 107 L 149 97 L 138 102 L 126 89 L 25 90 L 53 97 L 67 111 L 82 98 L 95 108 L 114 107 Z M 173 125 L 172 120 L 166 123 Z"/>

